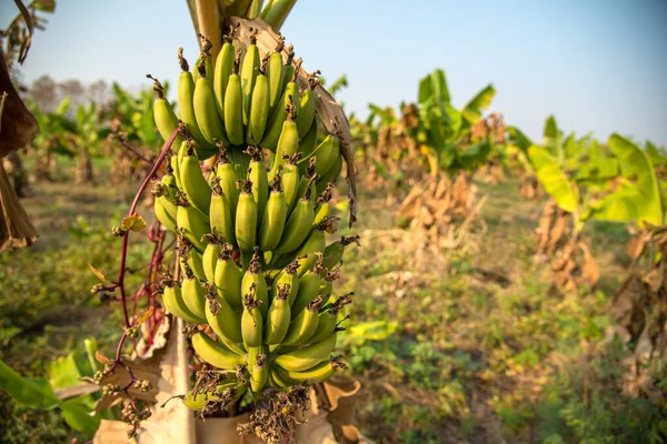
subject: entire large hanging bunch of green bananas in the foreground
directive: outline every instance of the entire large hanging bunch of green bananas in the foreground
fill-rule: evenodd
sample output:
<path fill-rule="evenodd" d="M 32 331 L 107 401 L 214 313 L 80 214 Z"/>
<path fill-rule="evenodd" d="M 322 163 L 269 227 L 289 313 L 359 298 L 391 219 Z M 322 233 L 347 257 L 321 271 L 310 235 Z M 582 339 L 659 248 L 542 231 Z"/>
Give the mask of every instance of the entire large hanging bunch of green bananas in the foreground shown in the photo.
<path fill-rule="evenodd" d="M 179 50 L 179 117 L 153 79 L 158 130 L 167 140 L 180 128 L 153 186 L 156 216 L 176 234 L 180 260 L 180 278 L 162 281 L 162 302 L 216 337 L 193 330 L 195 352 L 217 369 L 183 400 L 195 410 L 323 381 L 345 365 L 332 352 L 350 297 L 335 297 L 334 282 L 358 240 L 327 245 L 342 159 L 339 134 L 318 134 L 318 73 L 300 91 L 291 47 L 280 41 L 261 59 L 251 33 L 241 57 L 232 37 L 217 60 L 203 44 L 193 72 Z M 207 175 L 200 161 L 213 155 Z"/>

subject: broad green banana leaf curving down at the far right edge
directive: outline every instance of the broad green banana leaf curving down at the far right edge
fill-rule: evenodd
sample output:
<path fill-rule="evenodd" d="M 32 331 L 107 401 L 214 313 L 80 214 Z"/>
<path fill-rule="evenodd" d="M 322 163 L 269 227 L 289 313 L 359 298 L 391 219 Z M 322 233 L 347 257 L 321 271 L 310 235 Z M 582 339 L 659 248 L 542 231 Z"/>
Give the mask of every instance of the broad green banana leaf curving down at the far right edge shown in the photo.
<path fill-rule="evenodd" d="M 637 222 L 640 225 L 663 224 L 660 185 L 646 151 L 616 133 L 609 138 L 608 145 L 618 159 L 623 176 L 633 181 L 637 188 L 639 196 Z"/>

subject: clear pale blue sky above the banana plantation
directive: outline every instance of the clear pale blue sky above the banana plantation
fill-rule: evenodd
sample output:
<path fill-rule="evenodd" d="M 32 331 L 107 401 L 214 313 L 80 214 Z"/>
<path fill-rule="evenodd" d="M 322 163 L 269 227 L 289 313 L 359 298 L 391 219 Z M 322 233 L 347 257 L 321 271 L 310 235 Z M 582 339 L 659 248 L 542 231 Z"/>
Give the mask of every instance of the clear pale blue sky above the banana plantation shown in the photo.
<path fill-rule="evenodd" d="M 0 2 L 0 26 L 16 12 Z M 175 81 L 176 50 L 196 58 L 185 0 L 58 0 L 33 40 L 26 82 Z M 418 79 L 447 72 L 455 104 L 489 82 L 491 110 L 539 138 L 555 114 L 566 131 L 617 131 L 667 144 L 667 1 L 664 0 L 299 0 L 283 27 L 307 70 L 334 80 L 339 97 L 367 114 L 369 102 L 416 99 Z"/>

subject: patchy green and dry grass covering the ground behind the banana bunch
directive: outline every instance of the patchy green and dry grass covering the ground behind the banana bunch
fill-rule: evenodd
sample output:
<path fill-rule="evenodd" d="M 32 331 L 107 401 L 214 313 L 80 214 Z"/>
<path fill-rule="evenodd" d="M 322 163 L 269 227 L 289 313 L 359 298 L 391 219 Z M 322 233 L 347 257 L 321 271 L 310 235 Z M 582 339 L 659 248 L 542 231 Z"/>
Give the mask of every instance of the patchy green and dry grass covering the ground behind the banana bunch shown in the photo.
<path fill-rule="evenodd" d="M 60 178 L 73 176 L 72 167 Z M 90 294 L 87 265 L 113 275 L 119 249 L 109 229 L 136 185 L 106 186 L 108 165 L 97 167 L 94 186 L 36 184 L 23 204 L 40 239 L 0 255 L 0 359 L 22 374 L 43 375 L 87 336 L 109 350 L 120 333 L 120 310 Z M 609 301 L 627 265 L 623 226 L 585 230 L 603 281 L 561 294 L 532 261 L 540 204 L 520 200 L 511 181 L 479 186 L 489 195 L 487 232 L 446 269 L 407 270 L 410 233 L 394 236 L 397 205 L 378 191 L 361 194 L 354 230 L 340 224 L 339 234 L 358 233 L 362 244 L 346 252 L 336 283 L 339 294 L 356 292 L 340 342 L 349 375 L 362 383 L 362 433 L 378 443 L 664 442 L 666 410 L 619 395 L 626 352 L 606 341 Z M 146 254 L 136 245 L 130 264 Z M 77 436 L 58 413 L 21 410 L 1 393 L 0 405 L 0 417 L 14 418 L 0 427 L 0 442 Z"/>

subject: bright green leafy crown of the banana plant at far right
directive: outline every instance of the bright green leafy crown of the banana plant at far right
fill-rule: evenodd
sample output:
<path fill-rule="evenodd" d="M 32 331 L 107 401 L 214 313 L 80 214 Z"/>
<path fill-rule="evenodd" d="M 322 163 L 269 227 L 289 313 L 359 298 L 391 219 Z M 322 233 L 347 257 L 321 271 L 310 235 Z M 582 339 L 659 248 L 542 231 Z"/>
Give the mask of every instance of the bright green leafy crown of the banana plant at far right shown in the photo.
<path fill-rule="evenodd" d="M 544 143 L 535 144 L 517 128 L 508 128 L 512 145 L 526 153 L 545 191 L 574 215 L 574 231 L 589 219 L 663 221 L 663 195 L 647 151 L 613 134 L 604 147 L 590 137 L 564 137 L 554 117 L 545 123 Z"/>

